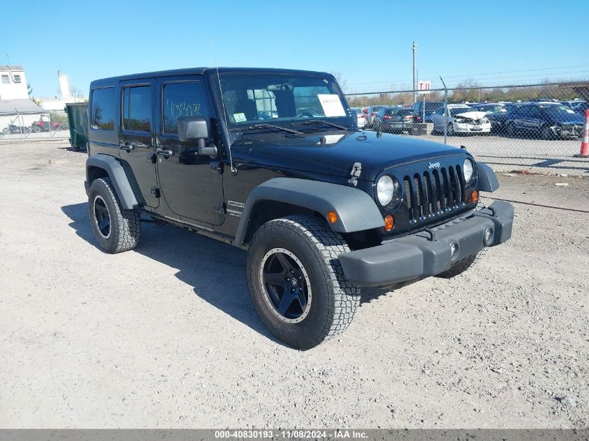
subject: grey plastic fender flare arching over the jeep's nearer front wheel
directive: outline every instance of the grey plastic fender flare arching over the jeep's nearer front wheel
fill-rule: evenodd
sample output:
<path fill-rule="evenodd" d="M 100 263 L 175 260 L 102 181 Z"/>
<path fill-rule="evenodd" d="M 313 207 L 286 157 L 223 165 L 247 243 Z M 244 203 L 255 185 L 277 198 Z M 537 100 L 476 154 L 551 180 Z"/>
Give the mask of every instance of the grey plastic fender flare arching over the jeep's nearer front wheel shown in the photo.
<path fill-rule="evenodd" d="M 277 201 L 321 213 L 337 213 L 337 221 L 328 225 L 337 233 L 351 233 L 384 226 L 374 200 L 362 190 L 298 178 L 273 178 L 255 187 L 247 196 L 236 232 L 235 244 L 243 245 L 247 227 L 260 201 Z"/>

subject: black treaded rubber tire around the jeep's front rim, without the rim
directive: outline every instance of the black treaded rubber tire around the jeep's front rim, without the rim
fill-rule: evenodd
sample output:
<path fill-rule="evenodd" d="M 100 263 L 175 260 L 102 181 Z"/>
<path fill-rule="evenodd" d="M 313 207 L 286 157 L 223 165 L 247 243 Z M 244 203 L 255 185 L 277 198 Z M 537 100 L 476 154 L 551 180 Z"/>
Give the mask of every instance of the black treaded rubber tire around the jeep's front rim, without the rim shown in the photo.
<path fill-rule="evenodd" d="M 299 323 L 286 323 L 266 301 L 261 283 L 263 256 L 280 247 L 303 263 L 309 276 L 312 302 Z M 278 339 L 306 350 L 341 334 L 360 304 L 360 288 L 344 279 L 339 254 L 350 249 L 323 219 L 292 215 L 263 224 L 254 234 L 247 252 L 247 284 L 256 311 Z"/>

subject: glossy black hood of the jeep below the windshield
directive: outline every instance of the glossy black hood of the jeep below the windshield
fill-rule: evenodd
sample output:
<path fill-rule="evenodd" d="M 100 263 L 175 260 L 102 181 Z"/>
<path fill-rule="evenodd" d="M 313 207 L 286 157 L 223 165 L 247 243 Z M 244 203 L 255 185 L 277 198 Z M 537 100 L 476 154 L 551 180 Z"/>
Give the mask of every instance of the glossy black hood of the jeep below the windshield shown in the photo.
<path fill-rule="evenodd" d="M 231 147 L 234 160 L 276 169 L 349 176 L 355 162 L 361 179 L 374 180 L 383 169 L 417 160 L 464 154 L 461 148 L 403 135 L 376 132 L 315 132 L 305 136 L 244 134 Z"/>

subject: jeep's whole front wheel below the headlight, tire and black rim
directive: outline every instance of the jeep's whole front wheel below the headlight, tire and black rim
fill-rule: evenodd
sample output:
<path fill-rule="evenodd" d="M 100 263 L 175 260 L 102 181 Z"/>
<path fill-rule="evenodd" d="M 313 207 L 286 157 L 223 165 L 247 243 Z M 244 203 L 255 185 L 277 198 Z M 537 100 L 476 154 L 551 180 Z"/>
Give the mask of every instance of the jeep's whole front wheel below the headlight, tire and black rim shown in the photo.
<path fill-rule="evenodd" d="M 305 350 L 348 327 L 360 288 L 344 280 L 345 252 L 348 245 L 323 219 L 294 215 L 258 229 L 247 252 L 247 284 L 270 332 Z"/>

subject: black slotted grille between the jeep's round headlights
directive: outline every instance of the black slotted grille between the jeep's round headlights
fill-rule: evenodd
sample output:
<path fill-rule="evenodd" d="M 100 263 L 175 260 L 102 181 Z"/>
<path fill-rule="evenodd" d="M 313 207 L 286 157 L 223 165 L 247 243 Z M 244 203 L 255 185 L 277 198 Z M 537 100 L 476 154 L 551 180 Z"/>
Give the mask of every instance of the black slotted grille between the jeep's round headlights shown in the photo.
<path fill-rule="evenodd" d="M 403 180 L 409 219 L 424 221 L 464 206 L 464 179 L 459 165 L 405 176 Z"/>

